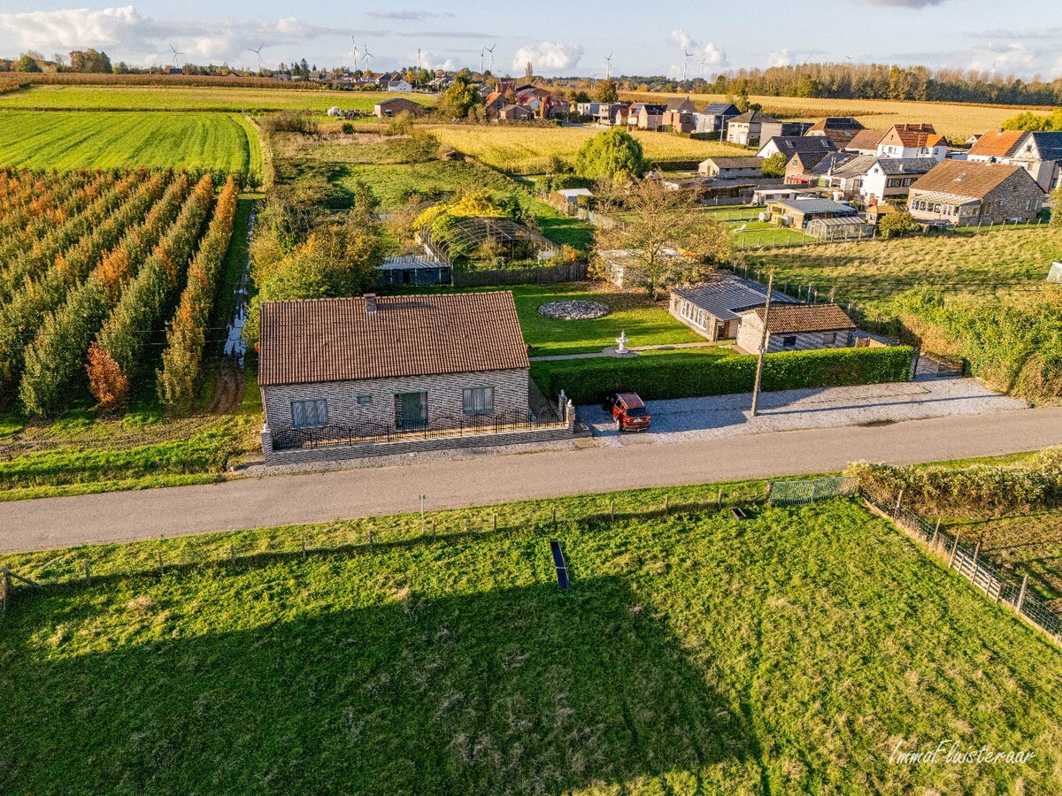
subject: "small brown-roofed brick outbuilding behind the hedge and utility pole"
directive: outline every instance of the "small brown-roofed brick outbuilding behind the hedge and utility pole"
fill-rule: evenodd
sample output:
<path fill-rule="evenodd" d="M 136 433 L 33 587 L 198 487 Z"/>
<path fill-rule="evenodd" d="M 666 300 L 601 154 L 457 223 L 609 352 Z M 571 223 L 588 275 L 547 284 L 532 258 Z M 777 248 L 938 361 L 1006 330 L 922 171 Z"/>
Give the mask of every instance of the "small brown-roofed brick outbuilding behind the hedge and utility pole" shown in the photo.
<path fill-rule="evenodd" d="M 764 334 L 765 308 L 741 313 L 737 345 L 749 353 L 758 353 Z M 852 345 L 856 325 L 836 304 L 772 304 L 767 321 L 766 351 L 805 351 L 817 348 L 846 348 Z"/>

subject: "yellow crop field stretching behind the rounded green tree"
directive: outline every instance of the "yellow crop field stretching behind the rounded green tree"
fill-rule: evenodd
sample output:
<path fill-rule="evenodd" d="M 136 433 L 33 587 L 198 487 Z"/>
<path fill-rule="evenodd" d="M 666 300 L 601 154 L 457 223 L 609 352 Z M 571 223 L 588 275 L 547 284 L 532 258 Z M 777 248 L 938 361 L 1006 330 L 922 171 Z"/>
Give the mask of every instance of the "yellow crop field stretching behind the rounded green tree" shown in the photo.
<path fill-rule="evenodd" d="M 513 125 L 432 125 L 432 134 L 459 152 L 513 174 L 544 174 L 554 157 L 575 162 L 576 153 L 602 127 L 521 127 Z M 668 163 L 680 160 L 704 160 L 718 155 L 742 155 L 742 146 L 717 141 L 696 141 L 669 133 L 635 131 L 646 157 Z"/>

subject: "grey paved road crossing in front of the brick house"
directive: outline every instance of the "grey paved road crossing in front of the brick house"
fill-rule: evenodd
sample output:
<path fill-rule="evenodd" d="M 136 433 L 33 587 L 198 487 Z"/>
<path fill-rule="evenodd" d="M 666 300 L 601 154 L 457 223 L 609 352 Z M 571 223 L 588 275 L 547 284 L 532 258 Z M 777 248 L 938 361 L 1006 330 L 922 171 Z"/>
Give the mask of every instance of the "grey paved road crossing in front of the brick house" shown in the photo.
<path fill-rule="evenodd" d="M 1062 408 L 425 462 L 215 485 L 0 503 L 0 552 L 459 508 L 638 487 L 836 472 L 858 460 L 915 464 L 1062 445 Z"/>

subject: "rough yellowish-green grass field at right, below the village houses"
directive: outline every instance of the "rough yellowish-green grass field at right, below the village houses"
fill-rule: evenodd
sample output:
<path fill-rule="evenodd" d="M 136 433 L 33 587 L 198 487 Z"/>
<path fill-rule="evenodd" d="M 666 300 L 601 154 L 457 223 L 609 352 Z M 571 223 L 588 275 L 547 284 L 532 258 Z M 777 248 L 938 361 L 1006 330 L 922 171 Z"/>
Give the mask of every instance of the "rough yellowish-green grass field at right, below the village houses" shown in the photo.
<path fill-rule="evenodd" d="M 952 232 L 891 241 L 828 243 L 791 250 L 746 253 L 750 269 L 775 266 L 775 279 L 813 284 L 819 295 L 834 288 L 869 317 L 890 318 L 890 299 L 914 287 L 942 285 L 952 292 L 1008 293 L 1039 284 L 1059 258 L 1062 230 L 1046 225 Z"/>

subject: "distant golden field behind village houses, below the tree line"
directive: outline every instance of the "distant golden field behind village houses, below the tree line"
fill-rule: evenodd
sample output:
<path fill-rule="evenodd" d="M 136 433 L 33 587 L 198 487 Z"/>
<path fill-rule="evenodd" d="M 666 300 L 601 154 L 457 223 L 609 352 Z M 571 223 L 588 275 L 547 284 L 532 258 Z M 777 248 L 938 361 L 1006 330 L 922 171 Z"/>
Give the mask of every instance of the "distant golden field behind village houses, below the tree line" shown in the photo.
<path fill-rule="evenodd" d="M 686 94 L 622 92 L 622 99 L 644 102 L 666 102 Z M 725 102 L 725 94 L 689 94 L 699 107 L 709 102 Z M 888 129 L 893 124 L 930 122 L 937 132 L 952 139 L 966 139 L 1003 123 L 1026 108 L 1018 105 L 964 105 L 943 102 L 907 102 L 898 100 L 834 100 L 805 97 L 750 97 L 767 114 L 784 119 L 821 119 L 824 116 L 854 116 L 869 129 Z M 1032 110 L 1047 116 L 1049 110 Z"/>

